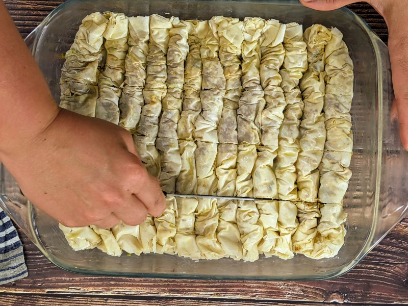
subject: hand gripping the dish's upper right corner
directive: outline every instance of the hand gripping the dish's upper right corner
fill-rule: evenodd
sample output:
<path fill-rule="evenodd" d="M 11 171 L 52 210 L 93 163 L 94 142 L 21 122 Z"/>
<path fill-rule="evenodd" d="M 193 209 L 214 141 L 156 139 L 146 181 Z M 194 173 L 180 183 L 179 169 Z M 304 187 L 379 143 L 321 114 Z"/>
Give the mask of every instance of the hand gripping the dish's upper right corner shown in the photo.
<path fill-rule="evenodd" d="M 360 2 L 353 0 L 300 0 L 309 8 L 328 11 Z M 392 81 L 400 122 L 402 145 L 408 150 L 408 3 L 402 0 L 369 0 L 387 22 Z"/>

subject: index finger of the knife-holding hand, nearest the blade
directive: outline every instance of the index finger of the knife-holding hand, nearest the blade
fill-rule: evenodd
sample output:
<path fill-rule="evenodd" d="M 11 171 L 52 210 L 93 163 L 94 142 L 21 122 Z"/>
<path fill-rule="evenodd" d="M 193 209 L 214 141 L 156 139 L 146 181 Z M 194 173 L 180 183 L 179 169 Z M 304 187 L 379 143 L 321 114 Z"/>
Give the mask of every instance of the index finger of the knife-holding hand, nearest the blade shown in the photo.
<path fill-rule="evenodd" d="M 134 159 L 136 164 L 137 157 Z M 156 177 L 147 173 L 146 169 L 141 166 L 135 171 L 131 185 L 132 193 L 143 203 L 150 215 L 158 217 L 163 213 L 166 198 L 160 187 L 160 181 Z"/>

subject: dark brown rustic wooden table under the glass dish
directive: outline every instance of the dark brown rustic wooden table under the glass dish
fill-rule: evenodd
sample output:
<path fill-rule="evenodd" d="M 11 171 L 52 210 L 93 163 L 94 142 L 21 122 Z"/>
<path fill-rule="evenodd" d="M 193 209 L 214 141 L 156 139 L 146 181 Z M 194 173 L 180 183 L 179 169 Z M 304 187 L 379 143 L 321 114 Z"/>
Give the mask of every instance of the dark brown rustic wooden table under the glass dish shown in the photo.
<path fill-rule="evenodd" d="M 5 0 L 23 37 L 63 1 Z M 384 41 L 384 20 L 368 5 L 359 13 Z M 408 218 L 349 273 L 324 282 L 187 281 L 83 276 L 50 264 L 20 233 L 29 277 L 0 286 L 3 305 L 349 305 L 408 303 Z"/>

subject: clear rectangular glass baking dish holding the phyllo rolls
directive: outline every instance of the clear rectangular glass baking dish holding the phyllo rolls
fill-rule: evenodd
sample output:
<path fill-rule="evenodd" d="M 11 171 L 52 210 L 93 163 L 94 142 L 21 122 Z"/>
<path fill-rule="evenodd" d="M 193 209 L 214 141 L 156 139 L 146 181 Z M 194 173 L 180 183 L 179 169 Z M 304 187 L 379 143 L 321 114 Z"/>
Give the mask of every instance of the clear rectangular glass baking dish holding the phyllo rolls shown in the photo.
<path fill-rule="evenodd" d="M 62 54 L 69 49 L 85 15 L 116 11 L 127 16 L 178 16 L 210 19 L 224 15 L 259 16 L 281 22 L 313 23 L 337 27 L 344 34 L 354 63 L 354 98 L 351 109 L 354 145 L 353 172 L 344 199 L 348 213 L 346 241 L 338 256 L 312 260 L 301 255 L 291 260 L 263 258 L 249 263 L 221 259 L 198 261 L 158 254 L 107 256 L 93 249 L 75 252 L 67 244 L 57 221 L 37 210 L 21 194 L 11 174 L 1 167 L 0 205 L 55 265 L 77 273 L 143 277 L 219 279 L 326 279 L 356 265 L 408 210 L 408 154 L 399 140 L 397 122 L 391 122 L 393 98 L 388 48 L 368 25 L 348 9 L 318 12 L 295 1 L 163 1 L 70 0 L 54 10 L 27 37 L 56 101 L 60 97 Z"/>

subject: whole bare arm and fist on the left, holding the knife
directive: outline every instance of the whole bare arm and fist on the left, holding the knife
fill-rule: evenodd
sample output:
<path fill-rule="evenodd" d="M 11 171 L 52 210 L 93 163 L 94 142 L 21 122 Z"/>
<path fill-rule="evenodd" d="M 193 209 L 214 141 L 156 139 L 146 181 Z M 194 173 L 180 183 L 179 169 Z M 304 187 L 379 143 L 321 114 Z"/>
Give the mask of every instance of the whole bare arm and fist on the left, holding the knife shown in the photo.
<path fill-rule="evenodd" d="M 36 207 L 67 226 L 158 216 L 165 198 L 131 134 L 58 108 L 0 2 L 0 160 Z"/>

